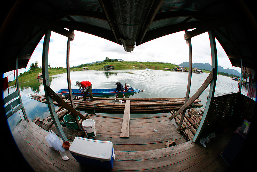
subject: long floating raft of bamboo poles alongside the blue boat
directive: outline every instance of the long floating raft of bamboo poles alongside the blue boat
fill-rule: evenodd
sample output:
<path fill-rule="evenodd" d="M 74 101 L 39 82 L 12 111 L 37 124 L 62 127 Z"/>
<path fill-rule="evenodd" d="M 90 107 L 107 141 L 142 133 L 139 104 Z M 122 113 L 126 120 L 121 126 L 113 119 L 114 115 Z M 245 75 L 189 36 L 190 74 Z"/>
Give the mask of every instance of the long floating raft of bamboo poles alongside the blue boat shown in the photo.
<path fill-rule="evenodd" d="M 42 103 L 47 103 L 45 96 L 30 94 L 29 98 L 37 100 Z M 65 100 L 65 97 L 62 96 Z M 74 100 L 75 106 L 81 110 L 95 110 L 104 112 L 118 112 L 123 113 L 125 109 L 126 100 L 130 100 L 131 113 L 160 113 L 169 112 L 170 110 L 177 110 L 185 103 L 185 98 L 103 98 L 94 97 L 94 101 L 86 100 L 82 102 L 82 97 L 79 100 Z M 65 100 L 71 104 L 70 100 Z M 199 104 L 201 100 L 197 98 L 188 108 L 193 106 L 201 107 Z M 54 105 L 60 106 L 55 100 Z"/>

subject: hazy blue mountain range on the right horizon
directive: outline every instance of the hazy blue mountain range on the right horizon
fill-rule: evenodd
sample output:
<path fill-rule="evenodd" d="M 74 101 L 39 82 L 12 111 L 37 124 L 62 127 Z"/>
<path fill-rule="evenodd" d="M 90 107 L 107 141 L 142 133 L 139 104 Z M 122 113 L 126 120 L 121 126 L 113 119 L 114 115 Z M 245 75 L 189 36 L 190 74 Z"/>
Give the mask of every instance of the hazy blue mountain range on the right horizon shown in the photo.
<path fill-rule="evenodd" d="M 183 66 L 183 67 L 189 67 L 189 62 L 183 62 L 178 66 Z M 202 70 L 212 70 L 212 66 L 208 63 L 192 63 L 192 68 L 198 68 L 198 69 L 202 69 Z M 221 66 L 218 66 L 218 72 L 224 72 L 227 74 L 233 74 L 236 75 L 240 78 L 241 74 L 234 69 L 229 69 L 229 68 L 222 68 Z"/>

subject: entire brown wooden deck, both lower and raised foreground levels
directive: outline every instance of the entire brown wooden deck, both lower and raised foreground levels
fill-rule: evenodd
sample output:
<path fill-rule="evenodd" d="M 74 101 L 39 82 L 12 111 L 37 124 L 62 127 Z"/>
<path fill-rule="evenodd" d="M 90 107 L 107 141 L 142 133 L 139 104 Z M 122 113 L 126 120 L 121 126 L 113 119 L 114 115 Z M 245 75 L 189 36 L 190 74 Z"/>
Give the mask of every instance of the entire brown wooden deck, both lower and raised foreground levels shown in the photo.
<path fill-rule="evenodd" d="M 228 168 L 219 154 L 228 144 L 231 132 L 217 135 L 203 147 L 184 141 L 167 116 L 130 118 L 129 138 L 120 138 L 122 118 L 91 116 L 91 119 L 97 128 L 93 139 L 114 144 L 114 167 L 104 171 L 225 171 Z M 32 121 L 22 121 L 12 131 L 23 156 L 36 172 L 103 170 L 78 163 L 69 150 L 65 151 L 70 159 L 62 160 L 59 152 L 50 149 L 46 142 L 47 133 Z M 170 139 L 177 145 L 166 147 Z"/>

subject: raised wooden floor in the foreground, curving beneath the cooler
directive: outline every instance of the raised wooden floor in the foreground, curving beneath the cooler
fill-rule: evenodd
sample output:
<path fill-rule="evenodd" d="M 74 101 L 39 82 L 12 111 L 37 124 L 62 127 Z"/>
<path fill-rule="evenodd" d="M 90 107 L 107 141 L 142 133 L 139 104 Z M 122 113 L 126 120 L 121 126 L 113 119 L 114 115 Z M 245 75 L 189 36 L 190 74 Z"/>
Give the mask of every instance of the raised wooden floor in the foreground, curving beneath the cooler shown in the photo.
<path fill-rule="evenodd" d="M 52 150 L 45 137 L 48 132 L 32 121 L 22 121 L 12 131 L 13 137 L 31 167 L 38 171 L 225 171 L 227 166 L 220 157 L 232 132 L 217 135 L 206 147 L 184 142 L 173 147 L 146 151 L 117 151 L 113 169 L 100 169 L 70 159 L 64 161 L 58 151 Z M 124 139 L 123 139 L 124 140 Z M 126 139 L 125 139 L 126 140 Z"/>

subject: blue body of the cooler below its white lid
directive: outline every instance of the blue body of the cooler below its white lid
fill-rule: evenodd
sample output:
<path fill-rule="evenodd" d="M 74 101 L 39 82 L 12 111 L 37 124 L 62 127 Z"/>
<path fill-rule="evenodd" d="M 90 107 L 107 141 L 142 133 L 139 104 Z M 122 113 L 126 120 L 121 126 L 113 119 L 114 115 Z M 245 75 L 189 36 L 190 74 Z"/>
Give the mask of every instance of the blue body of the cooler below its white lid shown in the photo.
<path fill-rule="evenodd" d="M 114 149 L 113 149 L 114 151 Z M 110 161 L 103 161 L 103 160 L 98 160 L 98 159 L 91 159 L 91 158 L 86 158 L 82 157 L 79 155 L 74 155 L 71 153 L 71 155 L 79 162 L 83 163 L 85 165 L 90 165 L 94 167 L 100 167 L 100 168 L 107 168 L 107 169 L 112 169 L 113 168 L 113 157 L 111 158 Z"/>

